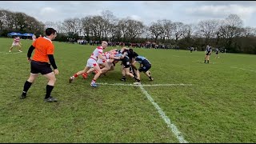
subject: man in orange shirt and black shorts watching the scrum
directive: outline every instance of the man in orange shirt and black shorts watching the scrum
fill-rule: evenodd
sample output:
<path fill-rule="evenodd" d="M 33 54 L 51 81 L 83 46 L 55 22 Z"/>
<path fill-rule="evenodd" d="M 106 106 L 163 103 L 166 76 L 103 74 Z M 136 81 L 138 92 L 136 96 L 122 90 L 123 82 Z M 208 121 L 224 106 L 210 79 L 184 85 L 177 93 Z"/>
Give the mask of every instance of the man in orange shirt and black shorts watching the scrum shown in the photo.
<path fill-rule="evenodd" d="M 26 98 L 26 93 L 30 89 L 32 83 L 38 78 L 38 73 L 41 73 L 49 81 L 46 85 L 45 102 L 57 102 L 57 99 L 52 97 L 51 91 L 54 89 L 56 82 L 55 74 L 58 74 L 58 69 L 54 60 L 54 44 L 52 40 L 56 38 L 57 32 L 53 28 L 46 29 L 46 37 L 39 37 L 36 39 L 27 52 L 27 59 L 30 62 L 30 78 L 26 80 L 21 98 Z M 31 59 L 31 54 L 34 56 Z M 49 63 L 50 62 L 50 63 Z M 54 71 L 50 68 L 53 66 Z"/>

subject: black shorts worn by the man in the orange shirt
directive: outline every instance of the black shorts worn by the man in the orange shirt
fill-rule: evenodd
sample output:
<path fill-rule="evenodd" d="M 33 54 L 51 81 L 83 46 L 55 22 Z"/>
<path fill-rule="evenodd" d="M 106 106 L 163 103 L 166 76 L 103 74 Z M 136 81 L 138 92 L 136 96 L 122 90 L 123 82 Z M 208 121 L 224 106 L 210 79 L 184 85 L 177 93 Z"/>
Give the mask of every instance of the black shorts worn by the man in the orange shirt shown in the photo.
<path fill-rule="evenodd" d="M 50 68 L 50 64 L 48 62 L 38 62 L 38 61 L 31 61 L 30 62 L 31 66 L 31 73 L 32 74 L 49 74 L 53 72 Z"/>

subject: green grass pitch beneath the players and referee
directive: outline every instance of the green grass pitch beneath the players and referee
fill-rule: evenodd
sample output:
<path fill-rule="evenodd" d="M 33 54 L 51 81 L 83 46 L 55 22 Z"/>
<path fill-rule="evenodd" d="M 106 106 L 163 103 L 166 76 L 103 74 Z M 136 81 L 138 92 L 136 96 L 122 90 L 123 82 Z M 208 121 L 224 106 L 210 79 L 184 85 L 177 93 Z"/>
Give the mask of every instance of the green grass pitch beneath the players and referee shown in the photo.
<path fill-rule="evenodd" d="M 42 76 L 19 99 L 30 75 L 32 41 L 22 40 L 22 53 L 14 48 L 7 54 L 12 40 L 0 38 L 0 142 L 179 142 L 138 86 L 92 88 L 92 75 L 68 82 L 95 46 L 54 42 L 60 74 L 52 95 L 58 102 L 43 102 Z M 142 74 L 142 84 L 192 84 L 143 86 L 187 142 L 256 142 L 256 55 L 212 54 L 204 64 L 202 51 L 134 50 L 152 63 L 154 81 Z M 121 77 L 118 63 L 97 82 L 134 82 Z"/>

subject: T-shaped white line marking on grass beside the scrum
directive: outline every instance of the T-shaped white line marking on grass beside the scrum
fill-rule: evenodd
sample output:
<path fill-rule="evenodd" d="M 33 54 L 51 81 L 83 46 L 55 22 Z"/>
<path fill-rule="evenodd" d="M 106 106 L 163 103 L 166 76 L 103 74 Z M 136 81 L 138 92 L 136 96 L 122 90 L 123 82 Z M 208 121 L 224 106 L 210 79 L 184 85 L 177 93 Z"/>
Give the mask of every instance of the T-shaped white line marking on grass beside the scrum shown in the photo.
<path fill-rule="evenodd" d="M 110 86 L 139 86 L 142 90 L 142 93 L 146 95 L 146 98 L 154 105 L 154 107 L 158 110 L 158 114 L 162 117 L 162 119 L 166 122 L 167 126 L 174 133 L 176 138 L 180 143 L 189 143 L 183 137 L 182 133 L 178 130 L 178 128 L 170 122 L 170 118 L 166 116 L 166 114 L 162 111 L 161 107 L 158 106 L 154 99 L 147 93 L 147 91 L 143 88 L 143 86 L 192 86 L 192 84 L 156 84 L 156 85 L 133 85 L 133 84 L 123 84 L 123 83 L 98 83 L 99 85 L 110 85 Z"/>

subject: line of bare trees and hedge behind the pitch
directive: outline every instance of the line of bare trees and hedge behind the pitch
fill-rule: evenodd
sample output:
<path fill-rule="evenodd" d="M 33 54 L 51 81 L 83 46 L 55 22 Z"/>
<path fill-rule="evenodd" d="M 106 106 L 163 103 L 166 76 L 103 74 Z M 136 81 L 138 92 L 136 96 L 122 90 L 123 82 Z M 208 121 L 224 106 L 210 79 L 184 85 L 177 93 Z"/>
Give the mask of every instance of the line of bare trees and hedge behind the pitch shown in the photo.
<path fill-rule="evenodd" d="M 233 53 L 256 54 L 256 29 L 243 27 L 242 19 L 237 14 L 230 14 L 225 19 L 202 20 L 197 24 L 162 19 L 146 26 L 129 17 L 116 18 L 110 10 L 102 11 L 100 15 L 45 23 L 24 13 L 0 10 L 1 35 L 10 31 L 43 34 L 46 27 L 58 30 L 59 41 L 66 41 L 66 38 L 83 38 L 87 41 L 150 41 L 179 46 L 180 49 L 193 46 L 197 50 L 205 50 L 205 46 L 210 45 Z"/>

